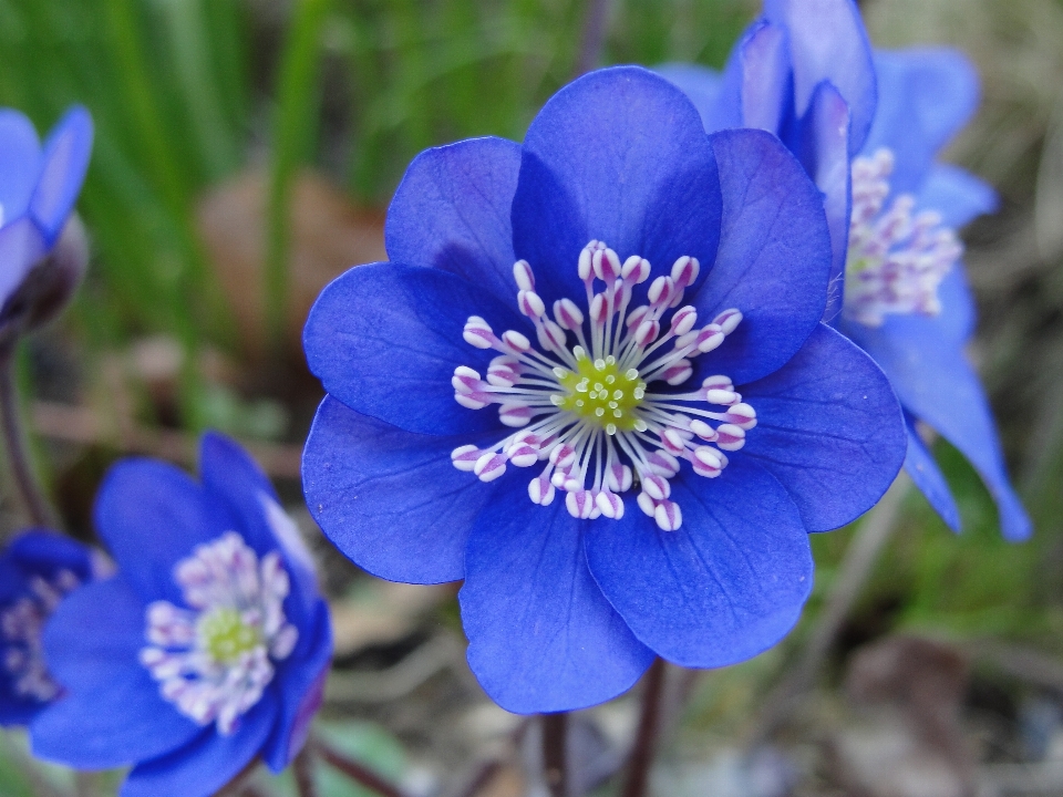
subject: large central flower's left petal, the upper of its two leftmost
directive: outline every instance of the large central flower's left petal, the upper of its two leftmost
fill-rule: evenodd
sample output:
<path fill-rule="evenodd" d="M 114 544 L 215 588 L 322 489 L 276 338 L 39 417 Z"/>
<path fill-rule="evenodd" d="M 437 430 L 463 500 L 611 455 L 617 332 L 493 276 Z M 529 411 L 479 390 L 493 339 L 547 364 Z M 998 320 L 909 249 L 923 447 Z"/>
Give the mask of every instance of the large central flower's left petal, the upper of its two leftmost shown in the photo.
<path fill-rule="evenodd" d="M 526 319 L 460 277 L 395 263 L 359 266 L 333 280 L 310 310 L 307 362 L 349 407 L 409 432 L 500 428 L 492 408 L 476 412 L 454 401 L 454 369 L 485 374 L 497 355 L 465 342 L 469 315 L 486 319 L 497 335 L 515 329 L 535 339 Z"/>

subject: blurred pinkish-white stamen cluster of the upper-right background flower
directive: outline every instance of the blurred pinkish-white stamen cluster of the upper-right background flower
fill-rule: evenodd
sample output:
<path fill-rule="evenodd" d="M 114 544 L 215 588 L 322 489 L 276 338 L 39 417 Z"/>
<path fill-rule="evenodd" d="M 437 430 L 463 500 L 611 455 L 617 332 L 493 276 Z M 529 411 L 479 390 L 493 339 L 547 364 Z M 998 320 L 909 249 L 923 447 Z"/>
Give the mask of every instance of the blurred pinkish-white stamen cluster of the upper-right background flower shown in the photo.
<path fill-rule="evenodd" d="M 956 232 L 916 199 L 889 196 L 894 154 L 881 148 L 853 162 L 853 217 L 845 263 L 845 314 L 880 327 L 887 313 L 936 315 L 938 286 L 963 253 Z"/>

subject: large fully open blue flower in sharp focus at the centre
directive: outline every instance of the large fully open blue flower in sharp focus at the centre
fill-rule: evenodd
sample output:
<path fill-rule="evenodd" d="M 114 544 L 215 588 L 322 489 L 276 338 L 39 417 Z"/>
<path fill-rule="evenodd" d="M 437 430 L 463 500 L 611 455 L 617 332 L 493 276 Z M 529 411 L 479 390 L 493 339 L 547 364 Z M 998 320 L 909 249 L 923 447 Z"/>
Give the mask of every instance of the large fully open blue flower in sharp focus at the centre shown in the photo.
<path fill-rule="evenodd" d="M 647 70 L 576 81 L 523 146 L 423 153 L 385 237 L 390 262 L 307 322 L 329 392 L 308 505 L 376 576 L 465 580 L 468 661 L 505 708 L 773 645 L 812 587 L 807 531 L 900 467 L 888 383 L 819 323 L 815 186 L 774 136 L 706 137 Z"/>

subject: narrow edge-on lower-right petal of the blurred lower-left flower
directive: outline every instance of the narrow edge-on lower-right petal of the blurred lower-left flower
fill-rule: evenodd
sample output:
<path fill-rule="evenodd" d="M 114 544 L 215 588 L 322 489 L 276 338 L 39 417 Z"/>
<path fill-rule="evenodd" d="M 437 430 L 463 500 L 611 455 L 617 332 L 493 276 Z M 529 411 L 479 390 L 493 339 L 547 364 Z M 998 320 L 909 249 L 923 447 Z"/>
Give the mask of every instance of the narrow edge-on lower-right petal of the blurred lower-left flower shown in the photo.
<path fill-rule="evenodd" d="M 299 631 L 299 644 L 277 671 L 279 717 L 262 748 L 262 759 L 280 772 L 296 757 L 310 732 L 310 723 L 324 691 L 332 661 L 332 624 L 324 601 L 318 602 L 316 622 Z"/>

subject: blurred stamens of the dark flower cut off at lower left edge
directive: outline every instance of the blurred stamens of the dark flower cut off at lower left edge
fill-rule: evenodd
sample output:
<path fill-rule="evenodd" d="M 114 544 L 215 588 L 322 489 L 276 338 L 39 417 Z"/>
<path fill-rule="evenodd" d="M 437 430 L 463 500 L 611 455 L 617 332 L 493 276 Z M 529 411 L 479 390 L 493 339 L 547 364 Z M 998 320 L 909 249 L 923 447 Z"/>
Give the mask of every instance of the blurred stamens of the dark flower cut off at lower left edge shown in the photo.
<path fill-rule="evenodd" d="M 70 570 L 60 570 L 51 580 L 34 576 L 29 594 L 0 612 L 2 664 L 17 695 L 44 703 L 59 694 L 44 662 L 41 631 L 63 597 L 80 584 Z"/>

